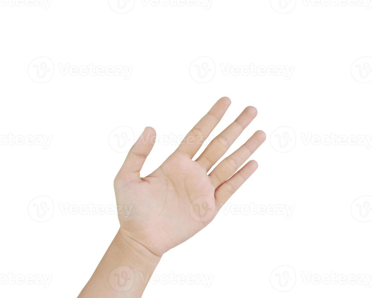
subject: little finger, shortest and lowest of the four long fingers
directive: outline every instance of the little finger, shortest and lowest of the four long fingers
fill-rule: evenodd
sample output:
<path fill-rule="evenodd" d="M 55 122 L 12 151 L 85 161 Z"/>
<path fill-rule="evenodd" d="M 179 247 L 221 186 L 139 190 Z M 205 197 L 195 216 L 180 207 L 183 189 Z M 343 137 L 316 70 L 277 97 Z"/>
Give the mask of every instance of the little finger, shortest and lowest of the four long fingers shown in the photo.
<path fill-rule="evenodd" d="M 229 180 L 219 186 L 215 191 L 215 199 L 218 209 L 226 203 L 239 187 L 256 171 L 258 164 L 256 161 L 250 161 L 243 168 L 237 171 Z"/>

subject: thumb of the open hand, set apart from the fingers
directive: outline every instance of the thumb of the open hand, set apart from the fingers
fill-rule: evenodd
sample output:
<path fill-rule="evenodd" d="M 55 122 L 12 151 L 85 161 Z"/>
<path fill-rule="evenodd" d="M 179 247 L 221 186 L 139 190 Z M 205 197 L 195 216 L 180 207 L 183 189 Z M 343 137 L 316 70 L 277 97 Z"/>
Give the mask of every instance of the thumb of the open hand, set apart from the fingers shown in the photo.
<path fill-rule="evenodd" d="M 125 176 L 129 181 L 141 181 L 140 170 L 153 149 L 156 132 L 152 127 L 146 127 L 137 142 L 129 150 L 128 155 L 122 165 L 118 178 Z"/>

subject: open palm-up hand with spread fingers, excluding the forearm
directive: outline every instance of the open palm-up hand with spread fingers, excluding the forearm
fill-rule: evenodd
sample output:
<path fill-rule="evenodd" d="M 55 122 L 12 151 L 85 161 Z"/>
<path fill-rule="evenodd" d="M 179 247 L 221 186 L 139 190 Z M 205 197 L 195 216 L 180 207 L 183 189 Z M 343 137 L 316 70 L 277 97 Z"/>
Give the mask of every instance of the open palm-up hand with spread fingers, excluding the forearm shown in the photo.
<path fill-rule="evenodd" d="M 128 218 L 119 215 L 119 232 L 124 238 L 131 238 L 161 256 L 208 225 L 221 206 L 257 169 L 257 162 L 250 161 L 236 172 L 266 139 L 263 131 L 254 133 L 208 175 L 256 117 L 254 107 L 247 107 L 195 161 L 192 160 L 230 104 L 227 97 L 219 99 L 179 148 L 152 174 L 140 178 L 140 170 L 156 137 L 155 130 L 146 127 L 114 182 L 117 205 L 132 207 Z"/>

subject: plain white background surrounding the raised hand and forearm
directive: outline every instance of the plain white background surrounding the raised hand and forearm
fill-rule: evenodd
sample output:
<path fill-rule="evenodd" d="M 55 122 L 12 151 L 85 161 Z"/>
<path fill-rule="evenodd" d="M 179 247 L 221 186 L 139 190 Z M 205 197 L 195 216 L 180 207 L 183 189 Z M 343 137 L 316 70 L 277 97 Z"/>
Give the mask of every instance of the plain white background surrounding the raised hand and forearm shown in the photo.
<path fill-rule="evenodd" d="M 371 0 L 131 2 L 1 1 L 1 297 L 76 297 L 118 229 L 117 151 L 153 126 L 149 174 L 221 96 L 213 136 L 258 109 L 229 153 L 264 130 L 259 169 L 143 297 L 371 297 Z"/>

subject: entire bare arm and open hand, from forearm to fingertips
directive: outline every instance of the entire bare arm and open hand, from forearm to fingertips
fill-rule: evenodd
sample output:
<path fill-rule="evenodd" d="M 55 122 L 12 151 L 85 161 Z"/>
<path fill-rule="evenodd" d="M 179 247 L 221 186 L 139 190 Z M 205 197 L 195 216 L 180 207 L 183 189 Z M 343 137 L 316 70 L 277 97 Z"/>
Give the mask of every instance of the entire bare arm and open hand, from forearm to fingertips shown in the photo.
<path fill-rule="evenodd" d="M 119 231 L 78 297 L 141 297 L 161 256 L 208 225 L 256 171 L 258 164 L 253 160 L 239 168 L 266 139 L 260 130 L 210 172 L 256 117 L 254 107 L 244 109 L 193 159 L 230 104 L 227 97 L 219 99 L 177 150 L 141 178 L 156 137 L 153 128 L 145 128 L 114 180 L 118 210 L 132 207 L 131 213 L 119 214 Z"/>

